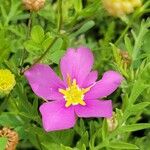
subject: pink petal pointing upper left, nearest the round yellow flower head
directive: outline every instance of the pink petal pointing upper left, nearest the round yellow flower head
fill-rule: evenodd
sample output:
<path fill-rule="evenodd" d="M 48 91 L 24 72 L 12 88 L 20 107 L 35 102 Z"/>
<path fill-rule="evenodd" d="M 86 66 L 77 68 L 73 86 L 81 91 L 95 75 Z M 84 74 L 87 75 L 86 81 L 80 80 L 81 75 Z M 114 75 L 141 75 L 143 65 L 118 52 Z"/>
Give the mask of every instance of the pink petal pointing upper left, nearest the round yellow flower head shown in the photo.
<path fill-rule="evenodd" d="M 64 87 L 63 81 L 45 64 L 36 64 L 25 72 L 25 77 L 36 95 L 47 100 L 62 99 L 58 88 Z"/>

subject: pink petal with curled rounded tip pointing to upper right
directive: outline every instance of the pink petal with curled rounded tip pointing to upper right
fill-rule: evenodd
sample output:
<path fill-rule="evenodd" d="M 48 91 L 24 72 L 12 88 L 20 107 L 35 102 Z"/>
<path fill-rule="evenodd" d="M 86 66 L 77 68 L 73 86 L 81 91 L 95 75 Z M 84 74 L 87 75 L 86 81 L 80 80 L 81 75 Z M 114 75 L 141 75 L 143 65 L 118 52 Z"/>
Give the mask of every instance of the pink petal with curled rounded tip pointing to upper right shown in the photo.
<path fill-rule="evenodd" d="M 102 79 L 85 94 L 85 99 L 97 99 L 110 95 L 118 88 L 122 80 L 123 77 L 118 72 L 105 72 Z"/>

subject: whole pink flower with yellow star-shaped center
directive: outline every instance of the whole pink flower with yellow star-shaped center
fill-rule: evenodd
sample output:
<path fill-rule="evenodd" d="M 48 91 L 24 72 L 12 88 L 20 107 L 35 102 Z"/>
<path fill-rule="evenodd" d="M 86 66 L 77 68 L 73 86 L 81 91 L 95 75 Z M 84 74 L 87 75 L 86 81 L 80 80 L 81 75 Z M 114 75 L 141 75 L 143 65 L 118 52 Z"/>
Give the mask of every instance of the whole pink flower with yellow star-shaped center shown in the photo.
<path fill-rule="evenodd" d="M 39 108 L 46 131 L 71 128 L 76 116 L 112 117 L 111 100 L 98 99 L 113 93 L 123 77 L 107 71 L 96 81 L 98 73 L 91 71 L 93 61 L 88 48 L 69 48 L 60 62 L 63 81 L 45 64 L 36 64 L 25 72 L 34 93 L 49 100 Z"/>

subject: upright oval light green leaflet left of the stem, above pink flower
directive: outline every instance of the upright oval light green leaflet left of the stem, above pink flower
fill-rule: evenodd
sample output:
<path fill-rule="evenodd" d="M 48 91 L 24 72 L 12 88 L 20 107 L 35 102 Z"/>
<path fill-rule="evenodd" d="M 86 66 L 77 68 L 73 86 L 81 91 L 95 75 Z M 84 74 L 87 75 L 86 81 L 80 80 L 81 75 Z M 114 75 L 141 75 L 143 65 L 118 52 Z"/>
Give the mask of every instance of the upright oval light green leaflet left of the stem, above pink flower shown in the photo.
<path fill-rule="evenodd" d="M 31 30 L 31 38 L 36 43 L 41 43 L 44 39 L 44 30 L 41 26 L 36 25 Z"/>

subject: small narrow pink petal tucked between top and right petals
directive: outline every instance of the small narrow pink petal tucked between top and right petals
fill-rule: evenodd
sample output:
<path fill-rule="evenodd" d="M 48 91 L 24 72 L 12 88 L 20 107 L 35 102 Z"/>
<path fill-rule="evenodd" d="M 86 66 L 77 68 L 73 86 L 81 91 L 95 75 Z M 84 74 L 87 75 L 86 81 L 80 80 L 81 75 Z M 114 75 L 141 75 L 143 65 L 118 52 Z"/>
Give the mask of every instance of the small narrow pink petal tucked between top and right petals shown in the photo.
<path fill-rule="evenodd" d="M 82 88 L 86 88 L 89 87 L 90 85 L 92 85 L 93 83 L 95 83 L 95 81 L 98 78 L 98 72 L 97 71 L 92 71 L 88 74 L 88 76 L 85 78 L 83 84 L 82 84 Z"/>

